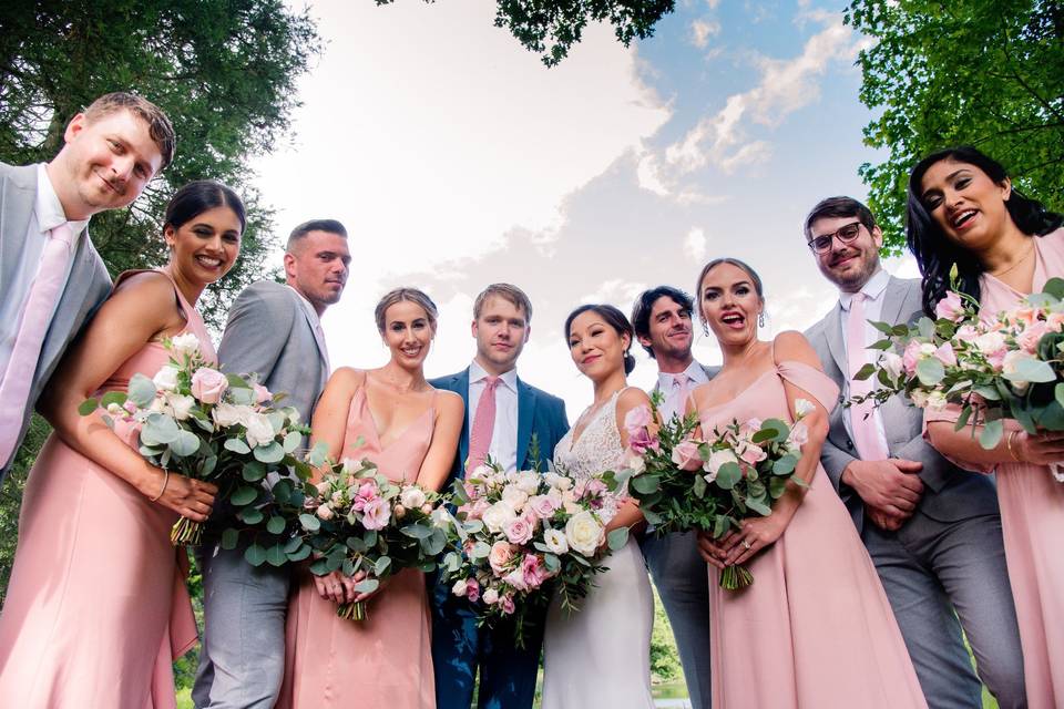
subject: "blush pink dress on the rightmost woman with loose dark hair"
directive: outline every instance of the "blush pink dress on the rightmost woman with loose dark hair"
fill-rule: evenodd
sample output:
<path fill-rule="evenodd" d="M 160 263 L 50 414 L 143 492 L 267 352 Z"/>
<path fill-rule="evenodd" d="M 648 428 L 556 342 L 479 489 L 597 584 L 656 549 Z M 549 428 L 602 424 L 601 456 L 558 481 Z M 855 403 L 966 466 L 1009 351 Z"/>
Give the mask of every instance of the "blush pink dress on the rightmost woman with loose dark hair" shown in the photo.
<path fill-rule="evenodd" d="M 1033 286 L 1034 292 L 1041 292 L 1050 278 L 1064 277 L 1064 229 L 1035 237 L 1034 246 Z M 980 309 L 991 316 L 1014 307 L 1025 296 L 989 274 L 980 278 Z M 955 422 L 959 413 L 954 407 L 939 412 L 927 410 L 924 420 Z M 1005 423 L 1006 435 L 1020 429 L 1015 422 Z M 1046 465 L 954 462 L 972 471 L 996 472 L 1027 706 L 1060 709 L 1064 707 L 1064 483 L 1056 482 Z"/>

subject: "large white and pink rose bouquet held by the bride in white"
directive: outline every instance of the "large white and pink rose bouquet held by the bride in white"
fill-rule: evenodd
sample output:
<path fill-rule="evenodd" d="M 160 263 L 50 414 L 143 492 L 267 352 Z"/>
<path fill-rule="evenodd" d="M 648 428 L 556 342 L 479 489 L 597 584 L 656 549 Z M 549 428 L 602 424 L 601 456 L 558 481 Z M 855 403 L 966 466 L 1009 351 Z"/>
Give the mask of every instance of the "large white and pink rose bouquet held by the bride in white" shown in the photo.
<path fill-rule="evenodd" d="M 627 528 L 606 534 L 622 502 L 615 486 L 611 472 L 574 481 L 559 472 L 505 473 L 489 460 L 454 483 L 452 551 L 441 579 L 480 603 L 484 619 L 513 616 L 521 645 L 530 608 L 557 593 L 563 608 L 576 610 L 605 571 L 602 561 L 627 541 Z"/>

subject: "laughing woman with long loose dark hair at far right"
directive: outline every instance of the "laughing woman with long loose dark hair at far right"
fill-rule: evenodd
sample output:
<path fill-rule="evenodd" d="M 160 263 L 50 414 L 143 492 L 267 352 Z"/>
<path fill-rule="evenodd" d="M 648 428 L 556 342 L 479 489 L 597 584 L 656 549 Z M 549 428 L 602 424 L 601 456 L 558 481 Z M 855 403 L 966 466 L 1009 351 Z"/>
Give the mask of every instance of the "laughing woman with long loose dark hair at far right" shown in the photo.
<path fill-rule="evenodd" d="M 988 314 L 1064 277 L 1061 222 L 1016 192 L 1004 168 L 975 148 L 920 161 L 909 177 L 908 238 L 923 274 L 924 308 L 933 314 L 954 264 L 961 290 Z M 1064 706 L 1064 555 L 1057 548 L 1064 484 L 1050 472 L 1050 463 L 1064 461 L 1064 433 L 1032 435 L 1006 421 L 1001 443 L 988 451 L 979 431 L 954 430 L 959 414 L 955 407 L 927 410 L 928 440 L 968 470 L 996 473 L 1027 702 L 1032 709 Z"/>

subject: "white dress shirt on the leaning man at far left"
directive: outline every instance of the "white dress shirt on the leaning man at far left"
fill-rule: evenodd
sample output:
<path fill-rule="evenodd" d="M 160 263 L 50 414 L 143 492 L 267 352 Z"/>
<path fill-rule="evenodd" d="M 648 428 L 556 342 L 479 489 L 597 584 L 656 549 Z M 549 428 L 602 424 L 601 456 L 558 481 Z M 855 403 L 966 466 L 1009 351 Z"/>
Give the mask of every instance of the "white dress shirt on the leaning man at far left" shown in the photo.
<path fill-rule="evenodd" d="M 3 380 L 3 374 L 8 371 L 8 362 L 11 361 L 11 350 L 14 349 L 14 340 L 22 325 L 25 301 L 29 300 L 30 289 L 33 287 L 33 281 L 37 280 L 37 271 L 41 267 L 41 257 L 44 255 L 48 233 L 65 222 L 66 214 L 63 212 L 63 205 L 52 187 L 52 181 L 48 177 L 44 163 L 40 163 L 37 166 L 37 203 L 33 205 L 33 214 L 30 215 L 22 253 L 17 257 L 19 265 L 14 269 L 14 278 L 0 294 L 0 381 Z M 81 238 L 88 224 L 89 219 L 70 223 L 70 230 L 74 235 L 70 245 L 72 253 L 76 253 L 78 239 Z M 63 288 L 65 288 L 66 280 L 70 280 L 70 271 L 73 267 L 74 259 L 71 258 L 66 266 Z M 62 290 L 60 290 L 60 294 L 62 294 Z M 55 308 L 59 307 L 61 298 L 62 296 L 55 299 L 52 316 L 55 315 Z"/>

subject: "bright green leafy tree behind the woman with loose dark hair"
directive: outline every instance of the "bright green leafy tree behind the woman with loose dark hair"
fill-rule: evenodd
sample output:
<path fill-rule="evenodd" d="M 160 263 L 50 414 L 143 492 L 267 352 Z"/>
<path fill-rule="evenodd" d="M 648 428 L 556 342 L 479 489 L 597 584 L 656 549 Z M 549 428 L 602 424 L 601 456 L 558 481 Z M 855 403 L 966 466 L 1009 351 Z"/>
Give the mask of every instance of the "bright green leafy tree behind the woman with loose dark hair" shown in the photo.
<path fill-rule="evenodd" d="M 904 245 L 906 183 L 958 144 L 1001 162 L 1017 186 L 1064 207 L 1064 3 L 1060 0 L 855 0 L 861 101 L 879 112 L 864 142 L 888 151 L 860 174 L 887 247 Z"/>

